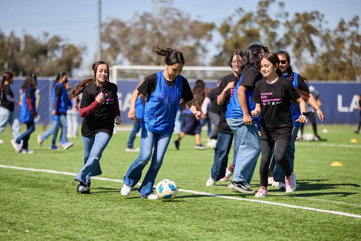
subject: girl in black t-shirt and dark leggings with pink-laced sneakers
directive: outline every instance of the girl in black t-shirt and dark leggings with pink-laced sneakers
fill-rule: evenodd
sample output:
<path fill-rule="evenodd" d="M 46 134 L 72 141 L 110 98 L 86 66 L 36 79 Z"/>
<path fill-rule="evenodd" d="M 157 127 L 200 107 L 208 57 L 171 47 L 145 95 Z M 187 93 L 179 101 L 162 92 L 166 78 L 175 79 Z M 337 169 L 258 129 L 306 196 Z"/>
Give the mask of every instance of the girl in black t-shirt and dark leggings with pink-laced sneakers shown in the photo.
<path fill-rule="evenodd" d="M 292 83 L 282 76 L 278 66 L 279 58 L 275 53 L 266 53 L 262 56 L 261 72 L 265 78 L 256 83 L 252 97 L 252 102 L 256 103 L 256 108 L 251 114 L 258 117 L 262 113 L 261 188 L 256 193 L 256 197 L 268 196 L 268 172 L 273 147 L 275 160 L 285 175 L 286 193 L 292 193 L 296 190 L 296 175 L 291 171 L 290 163 L 286 159 L 286 150 L 292 133 L 290 104 L 292 100 L 300 106 L 301 115 L 296 121 L 306 122 L 306 103 L 303 98 L 307 100 L 308 94 L 300 90 L 297 91 Z"/>

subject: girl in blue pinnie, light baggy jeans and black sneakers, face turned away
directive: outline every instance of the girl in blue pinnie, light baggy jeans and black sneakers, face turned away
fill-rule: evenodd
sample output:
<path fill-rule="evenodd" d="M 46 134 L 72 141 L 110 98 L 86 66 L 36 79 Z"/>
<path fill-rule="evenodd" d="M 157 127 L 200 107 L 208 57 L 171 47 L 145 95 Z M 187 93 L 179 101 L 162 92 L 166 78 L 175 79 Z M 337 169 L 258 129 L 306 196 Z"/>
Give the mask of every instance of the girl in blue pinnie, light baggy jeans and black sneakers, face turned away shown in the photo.
<path fill-rule="evenodd" d="M 254 193 L 249 187 L 255 172 L 258 156 L 261 153 L 260 136 L 258 134 L 259 117 L 252 117 L 251 110 L 256 106 L 251 102 L 255 84 L 262 79 L 260 59 L 268 52 L 261 44 L 254 44 L 244 53 L 242 65 L 238 72 L 238 81 L 234 94 L 227 106 L 226 119 L 232 131 L 240 139 L 233 180 L 229 188 L 242 193 Z"/>

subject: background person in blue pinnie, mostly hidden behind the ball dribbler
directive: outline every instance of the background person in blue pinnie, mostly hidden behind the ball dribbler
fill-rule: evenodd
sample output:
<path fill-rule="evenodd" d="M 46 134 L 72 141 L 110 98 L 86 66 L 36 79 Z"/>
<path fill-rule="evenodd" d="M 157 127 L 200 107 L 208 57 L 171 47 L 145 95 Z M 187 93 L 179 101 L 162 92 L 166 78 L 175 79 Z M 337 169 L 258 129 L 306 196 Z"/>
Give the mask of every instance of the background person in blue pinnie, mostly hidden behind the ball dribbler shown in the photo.
<path fill-rule="evenodd" d="M 146 79 L 146 78 L 145 78 Z M 145 79 L 143 79 L 139 85 L 137 86 L 137 88 L 145 81 Z M 144 95 L 139 95 L 138 99 L 135 102 L 135 111 L 137 113 L 138 118 L 134 119 L 134 125 L 133 125 L 133 129 L 132 132 L 129 135 L 129 139 L 128 139 L 128 143 L 127 143 L 127 148 L 125 149 L 125 151 L 130 151 L 130 152 L 137 152 L 140 151 L 140 148 L 133 148 L 133 143 L 134 143 L 134 139 L 136 136 L 136 133 L 139 132 L 141 126 L 140 126 L 140 120 L 142 120 L 143 117 L 143 112 L 144 112 L 144 105 L 145 105 L 145 100 L 146 100 L 146 96 Z"/>

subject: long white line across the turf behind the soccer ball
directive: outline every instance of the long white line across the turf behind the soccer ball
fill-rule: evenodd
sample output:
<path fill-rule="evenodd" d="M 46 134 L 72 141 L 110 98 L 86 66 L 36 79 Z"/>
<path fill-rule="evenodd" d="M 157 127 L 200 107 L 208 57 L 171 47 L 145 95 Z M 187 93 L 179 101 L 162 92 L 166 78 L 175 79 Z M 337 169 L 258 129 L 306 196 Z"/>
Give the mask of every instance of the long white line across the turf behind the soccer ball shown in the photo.
<path fill-rule="evenodd" d="M 19 170 L 25 170 L 25 171 L 34 171 L 34 172 L 56 173 L 56 174 L 63 174 L 63 175 L 70 175 L 70 176 L 76 176 L 77 175 L 77 173 L 71 173 L 71 172 L 59 172 L 59 171 L 46 170 L 46 169 L 14 167 L 14 166 L 1 165 L 1 164 L 0 164 L 0 167 L 19 169 Z M 113 181 L 113 182 L 123 182 L 122 180 L 109 179 L 109 178 L 104 178 L 104 177 L 92 177 L 92 179 L 103 180 L 103 181 Z M 140 183 L 138 183 L 137 185 L 140 185 Z M 283 207 L 305 209 L 305 210 L 311 210 L 311 211 L 317 211 L 317 212 L 328 212 L 330 214 L 337 214 L 337 215 L 349 216 L 349 217 L 354 217 L 354 218 L 361 218 L 361 215 L 349 214 L 347 212 L 323 210 L 323 209 L 311 208 L 311 207 L 301 207 L 301 206 L 289 205 L 289 204 L 284 204 L 284 203 L 268 202 L 268 201 L 258 200 L 258 199 L 246 199 L 246 198 L 229 197 L 229 196 L 212 194 L 212 193 L 204 193 L 204 192 L 201 192 L 201 191 L 192 191 L 192 190 L 185 190 L 185 189 L 178 189 L 178 190 L 179 191 L 184 191 L 184 192 L 187 192 L 187 193 L 194 193 L 194 194 L 206 195 L 206 196 L 212 196 L 212 197 L 221 197 L 221 198 L 226 198 L 226 199 L 241 200 L 241 201 L 247 201 L 247 202 L 258 202 L 258 203 L 272 204 L 272 205 L 283 206 Z"/>

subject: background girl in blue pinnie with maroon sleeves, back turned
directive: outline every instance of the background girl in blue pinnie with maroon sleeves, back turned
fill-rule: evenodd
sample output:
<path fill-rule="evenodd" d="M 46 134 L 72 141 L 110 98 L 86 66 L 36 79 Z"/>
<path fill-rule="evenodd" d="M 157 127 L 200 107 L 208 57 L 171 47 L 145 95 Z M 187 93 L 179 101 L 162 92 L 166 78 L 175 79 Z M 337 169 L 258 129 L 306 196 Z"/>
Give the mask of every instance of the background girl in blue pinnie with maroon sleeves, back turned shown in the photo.
<path fill-rule="evenodd" d="M 24 83 L 21 86 L 23 92 L 22 105 L 20 111 L 19 121 L 26 123 L 27 130 L 22 135 L 20 135 L 16 140 L 12 139 L 11 143 L 13 144 L 15 151 L 25 153 L 34 153 L 34 150 L 28 150 L 28 141 L 30 134 L 34 132 L 34 118 L 38 116 L 36 113 L 35 107 L 35 90 L 36 90 L 36 76 L 34 74 L 26 77 Z M 23 141 L 22 148 L 19 147 L 19 144 Z"/>

